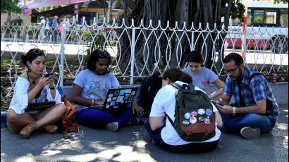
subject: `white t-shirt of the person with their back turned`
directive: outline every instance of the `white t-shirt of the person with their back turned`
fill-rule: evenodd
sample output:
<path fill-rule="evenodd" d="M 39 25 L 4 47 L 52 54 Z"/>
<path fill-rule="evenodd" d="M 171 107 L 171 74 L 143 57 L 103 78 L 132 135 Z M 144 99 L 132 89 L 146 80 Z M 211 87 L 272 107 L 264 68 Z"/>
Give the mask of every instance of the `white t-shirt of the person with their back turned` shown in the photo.
<path fill-rule="evenodd" d="M 184 82 L 177 81 L 178 85 L 185 84 Z M 163 117 L 168 114 L 168 116 L 171 118 L 171 120 L 175 120 L 174 114 L 175 114 L 175 106 L 176 106 L 176 88 L 172 85 L 166 85 L 159 89 L 159 92 L 157 92 L 156 97 L 154 98 L 154 102 L 152 104 L 152 110 L 149 115 L 149 117 Z M 201 90 L 197 86 L 195 87 L 195 90 Z M 218 111 L 214 104 L 213 111 Z M 208 139 L 204 142 L 213 142 L 220 138 L 221 132 L 216 127 L 216 135 L 212 137 L 211 139 Z M 176 132 L 175 128 L 173 128 L 173 125 L 171 125 L 168 118 L 166 119 L 166 126 L 163 127 L 161 130 L 161 139 L 166 144 L 170 144 L 173 146 L 176 145 L 183 145 L 183 144 L 190 144 L 190 143 L 202 143 L 202 142 L 186 142 L 183 139 L 180 138 L 178 133 Z"/>

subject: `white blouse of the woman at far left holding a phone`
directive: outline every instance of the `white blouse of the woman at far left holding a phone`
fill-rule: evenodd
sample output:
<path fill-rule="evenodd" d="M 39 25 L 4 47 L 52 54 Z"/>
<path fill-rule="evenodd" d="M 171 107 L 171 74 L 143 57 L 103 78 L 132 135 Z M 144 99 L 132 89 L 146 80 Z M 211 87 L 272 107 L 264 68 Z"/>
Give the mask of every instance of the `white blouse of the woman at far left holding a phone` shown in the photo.
<path fill-rule="evenodd" d="M 9 106 L 9 109 L 12 109 L 17 114 L 23 114 L 25 108 L 28 105 L 28 92 L 29 92 L 29 81 L 25 77 L 18 77 L 16 80 L 16 85 L 14 87 L 14 94 Z M 48 101 L 55 101 L 56 104 L 62 103 L 61 95 L 58 90 L 56 90 L 55 99 L 52 99 L 49 85 L 45 86 L 42 89 L 42 92 L 37 99 L 32 99 L 31 103 L 44 102 L 45 96 Z"/>

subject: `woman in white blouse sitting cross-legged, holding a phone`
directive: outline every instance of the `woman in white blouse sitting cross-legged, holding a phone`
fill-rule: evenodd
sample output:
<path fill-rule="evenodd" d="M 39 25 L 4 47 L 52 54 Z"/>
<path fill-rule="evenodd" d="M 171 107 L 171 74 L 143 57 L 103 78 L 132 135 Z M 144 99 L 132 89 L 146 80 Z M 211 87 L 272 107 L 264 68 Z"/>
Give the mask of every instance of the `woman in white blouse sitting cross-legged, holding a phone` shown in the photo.
<path fill-rule="evenodd" d="M 40 49 L 30 49 L 21 56 L 25 73 L 16 80 L 14 94 L 7 113 L 7 125 L 11 132 L 20 132 L 28 138 L 31 132 L 41 128 L 46 132 L 56 132 L 58 127 L 52 125 L 66 112 L 61 102 L 61 95 L 55 89 L 53 77 L 44 77 L 45 55 Z M 39 113 L 30 114 L 27 106 L 30 103 L 55 101 L 56 105 Z"/>

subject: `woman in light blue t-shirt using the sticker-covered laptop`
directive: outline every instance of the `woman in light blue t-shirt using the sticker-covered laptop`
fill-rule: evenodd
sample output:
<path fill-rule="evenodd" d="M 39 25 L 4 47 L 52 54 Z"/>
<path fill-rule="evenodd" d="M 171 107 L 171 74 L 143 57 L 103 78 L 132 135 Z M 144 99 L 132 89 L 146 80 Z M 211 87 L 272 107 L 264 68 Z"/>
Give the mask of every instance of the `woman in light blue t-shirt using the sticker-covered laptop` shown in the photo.
<path fill-rule="evenodd" d="M 106 111 L 90 108 L 90 106 L 104 104 L 108 90 L 120 87 L 116 77 L 108 70 L 110 64 L 111 56 L 107 51 L 98 49 L 92 51 L 87 60 L 87 68 L 75 77 L 71 98 L 79 106 L 80 111 L 76 113 L 76 120 L 80 125 L 106 126 L 107 130 L 115 132 L 119 126 L 128 123 L 133 113 L 142 115 L 143 108 L 133 104 L 133 110 L 128 108 L 120 116 L 113 116 Z"/>

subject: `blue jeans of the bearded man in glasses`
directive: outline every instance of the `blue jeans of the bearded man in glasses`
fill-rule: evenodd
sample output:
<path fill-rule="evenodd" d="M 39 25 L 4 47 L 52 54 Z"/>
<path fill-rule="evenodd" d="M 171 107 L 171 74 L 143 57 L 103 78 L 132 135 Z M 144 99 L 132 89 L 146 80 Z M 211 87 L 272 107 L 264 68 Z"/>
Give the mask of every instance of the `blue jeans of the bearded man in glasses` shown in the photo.
<path fill-rule="evenodd" d="M 223 120 L 223 130 L 237 134 L 240 133 L 243 127 L 259 127 L 262 133 L 268 133 L 276 123 L 276 121 L 271 120 L 269 117 L 257 113 L 237 114 L 236 116 L 221 113 L 221 117 Z"/>

